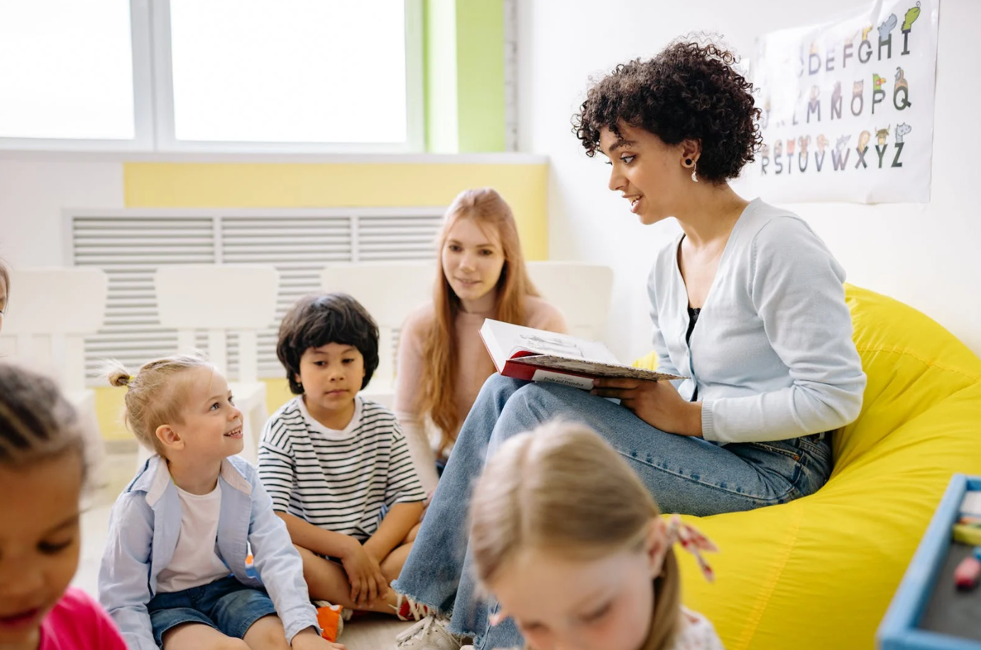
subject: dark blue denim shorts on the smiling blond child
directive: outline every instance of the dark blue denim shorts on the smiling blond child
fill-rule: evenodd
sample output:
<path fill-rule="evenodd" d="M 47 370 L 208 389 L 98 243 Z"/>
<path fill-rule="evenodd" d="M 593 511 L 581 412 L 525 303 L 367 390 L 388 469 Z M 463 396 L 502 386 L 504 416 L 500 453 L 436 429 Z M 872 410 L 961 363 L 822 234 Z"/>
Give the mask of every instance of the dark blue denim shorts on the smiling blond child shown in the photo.
<path fill-rule="evenodd" d="M 276 614 L 265 589 L 248 587 L 234 575 L 172 593 L 158 593 L 146 605 L 153 638 L 164 647 L 164 632 L 184 623 L 210 625 L 226 636 L 243 638 L 264 616 Z"/>

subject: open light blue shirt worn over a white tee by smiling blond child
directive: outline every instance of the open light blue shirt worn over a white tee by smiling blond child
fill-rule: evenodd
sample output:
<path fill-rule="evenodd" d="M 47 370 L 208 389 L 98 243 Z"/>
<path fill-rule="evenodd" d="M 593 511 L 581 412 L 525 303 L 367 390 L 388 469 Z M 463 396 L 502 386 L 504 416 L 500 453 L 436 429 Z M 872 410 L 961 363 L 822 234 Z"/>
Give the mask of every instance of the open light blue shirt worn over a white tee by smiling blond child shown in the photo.
<path fill-rule="evenodd" d="M 215 552 L 243 584 L 265 587 L 283 621 L 286 639 L 307 627 L 320 629 L 303 579 L 303 561 L 283 520 L 240 458 L 222 461 L 222 508 Z M 99 602 L 123 633 L 129 650 L 158 650 L 146 605 L 157 576 L 174 557 L 181 532 L 181 498 L 167 462 L 150 458 L 116 500 L 109 541 L 99 569 Z M 245 558 L 251 546 L 253 568 Z"/>

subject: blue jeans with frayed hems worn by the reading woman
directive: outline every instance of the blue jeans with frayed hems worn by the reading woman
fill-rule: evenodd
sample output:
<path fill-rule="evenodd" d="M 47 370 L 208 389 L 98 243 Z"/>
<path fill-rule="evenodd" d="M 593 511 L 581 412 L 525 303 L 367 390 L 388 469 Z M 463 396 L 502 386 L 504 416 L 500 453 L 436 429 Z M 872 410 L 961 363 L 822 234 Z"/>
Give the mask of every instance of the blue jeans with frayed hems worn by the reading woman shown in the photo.
<path fill-rule="evenodd" d="M 554 418 L 585 423 L 606 438 L 666 513 L 704 516 L 785 503 L 814 492 L 831 474 L 824 433 L 719 446 L 665 433 L 585 390 L 491 375 L 393 583 L 399 593 L 450 614 L 450 631 L 472 636 L 477 650 L 520 647 L 522 639 L 509 619 L 489 624 L 497 604 L 476 588 L 467 549 L 471 488 L 502 441 Z"/>

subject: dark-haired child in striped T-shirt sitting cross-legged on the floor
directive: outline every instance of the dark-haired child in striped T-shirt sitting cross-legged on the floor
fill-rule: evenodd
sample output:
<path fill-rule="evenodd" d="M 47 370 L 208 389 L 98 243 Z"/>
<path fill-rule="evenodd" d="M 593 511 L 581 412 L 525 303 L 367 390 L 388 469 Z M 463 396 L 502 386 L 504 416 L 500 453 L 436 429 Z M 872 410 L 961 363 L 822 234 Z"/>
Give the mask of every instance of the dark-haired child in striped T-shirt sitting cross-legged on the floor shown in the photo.
<path fill-rule="evenodd" d="M 344 293 L 301 298 L 276 346 L 295 399 L 266 423 L 259 477 L 303 558 L 310 597 L 422 618 L 394 593 L 426 493 L 395 416 L 362 399 L 378 368 L 378 325 Z"/>

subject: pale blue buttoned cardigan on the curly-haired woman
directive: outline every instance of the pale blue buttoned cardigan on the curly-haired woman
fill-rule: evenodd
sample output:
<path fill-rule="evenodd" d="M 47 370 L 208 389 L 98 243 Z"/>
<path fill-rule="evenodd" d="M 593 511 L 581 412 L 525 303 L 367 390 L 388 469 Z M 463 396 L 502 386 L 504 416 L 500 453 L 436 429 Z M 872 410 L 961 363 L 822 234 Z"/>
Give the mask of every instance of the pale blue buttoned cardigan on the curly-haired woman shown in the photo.
<path fill-rule="evenodd" d="M 691 399 L 720 443 L 783 440 L 858 417 L 865 374 L 852 341 L 845 271 L 800 217 L 749 203 L 733 226 L 692 332 L 680 235 L 647 280 L 658 370 Z"/>

